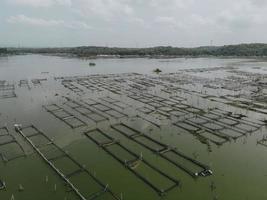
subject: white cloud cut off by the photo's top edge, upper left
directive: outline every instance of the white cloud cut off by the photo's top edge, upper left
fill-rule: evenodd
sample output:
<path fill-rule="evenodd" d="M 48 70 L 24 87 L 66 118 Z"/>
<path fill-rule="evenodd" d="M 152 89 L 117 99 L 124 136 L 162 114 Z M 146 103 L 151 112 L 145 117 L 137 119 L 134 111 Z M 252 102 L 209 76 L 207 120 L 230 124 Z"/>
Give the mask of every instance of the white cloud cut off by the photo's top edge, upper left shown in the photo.
<path fill-rule="evenodd" d="M 12 5 L 49 7 L 53 5 L 71 6 L 72 0 L 7 0 Z"/>

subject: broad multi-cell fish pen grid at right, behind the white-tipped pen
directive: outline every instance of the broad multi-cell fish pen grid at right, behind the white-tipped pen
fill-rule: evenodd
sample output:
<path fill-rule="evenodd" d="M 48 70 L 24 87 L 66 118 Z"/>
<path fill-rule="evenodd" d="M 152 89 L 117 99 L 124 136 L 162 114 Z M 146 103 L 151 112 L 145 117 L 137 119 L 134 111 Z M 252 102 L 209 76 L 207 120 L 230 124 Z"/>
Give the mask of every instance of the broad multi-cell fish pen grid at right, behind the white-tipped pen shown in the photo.
<path fill-rule="evenodd" d="M 174 122 L 173 125 L 200 136 L 202 139 L 222 145 L 259 130 L 263 123 L 240 119 L 239 115 L 233 116 L 227 112 L 214 110 L 186 117 Z"/>

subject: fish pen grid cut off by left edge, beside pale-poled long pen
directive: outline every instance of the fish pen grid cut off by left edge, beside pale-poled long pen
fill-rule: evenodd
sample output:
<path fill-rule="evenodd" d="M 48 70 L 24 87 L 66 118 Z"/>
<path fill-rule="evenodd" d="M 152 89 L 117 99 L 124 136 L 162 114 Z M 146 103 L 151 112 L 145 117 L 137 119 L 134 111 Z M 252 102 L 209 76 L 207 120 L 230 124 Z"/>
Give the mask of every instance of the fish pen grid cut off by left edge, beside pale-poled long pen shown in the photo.
<path fill-rule="evenodd" d="M 25 156 L 21 144 L 9 133 L 7 127 L 0 128 L 0 156 L 3 162 L 13 161 Z"/>

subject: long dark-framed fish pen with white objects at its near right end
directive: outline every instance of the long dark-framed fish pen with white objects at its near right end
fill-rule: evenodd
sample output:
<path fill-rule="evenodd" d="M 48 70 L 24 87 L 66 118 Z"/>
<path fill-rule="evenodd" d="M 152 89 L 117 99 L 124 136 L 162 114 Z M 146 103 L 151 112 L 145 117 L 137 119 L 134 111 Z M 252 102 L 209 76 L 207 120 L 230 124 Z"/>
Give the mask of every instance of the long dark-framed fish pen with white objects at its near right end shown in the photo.
<path fill-rule="evenodd" d="M 131 141 L 149 149 L 160 157 L 174 164 L 179 169 L 183 170 L 192 177 L 212 175 L 210 168 L 201 162 L 186 156 L 177 149 L 170 148 L 168 145 L 157 141 L 150 136 L 140 132 L 139 130 L 130 127 L 124 123 L 112 125 L 113 129 L 123 134 Z"/>

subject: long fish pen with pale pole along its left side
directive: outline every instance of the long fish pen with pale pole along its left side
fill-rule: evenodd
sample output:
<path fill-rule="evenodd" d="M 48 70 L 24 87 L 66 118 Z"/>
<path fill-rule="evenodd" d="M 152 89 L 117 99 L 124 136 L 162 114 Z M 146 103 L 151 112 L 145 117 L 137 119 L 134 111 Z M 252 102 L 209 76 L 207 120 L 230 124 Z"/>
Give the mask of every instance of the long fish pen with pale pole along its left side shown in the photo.
<path fill-rule="evenodd" d="M 46 136 L 42 131 L 34 125 L 20 127 L 15 126 L 20 135 L 32 146 L 34 151 L 56 172 L 56 174 L 69 186 L 79 199 L 98 199 L 108 197 L 108 199 L 120 200 L 108 187 L 107 184 L 101 182 L 93 173 L 87 170 L 81 163 L 76 161 L 70 154 L 57 146 L 53 140 Z M 33 137 L 41 136 L 46 138 L 47 143 L 40 145 L 35 143 Z M 77 181 L 79 179 L 86 180 L 88 188 L 84 188 L 84 183 Z"/>

